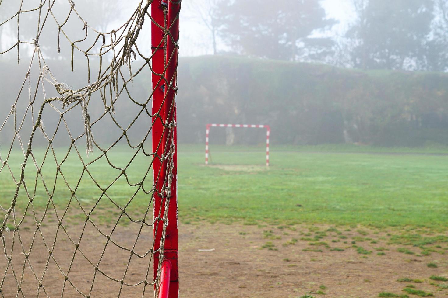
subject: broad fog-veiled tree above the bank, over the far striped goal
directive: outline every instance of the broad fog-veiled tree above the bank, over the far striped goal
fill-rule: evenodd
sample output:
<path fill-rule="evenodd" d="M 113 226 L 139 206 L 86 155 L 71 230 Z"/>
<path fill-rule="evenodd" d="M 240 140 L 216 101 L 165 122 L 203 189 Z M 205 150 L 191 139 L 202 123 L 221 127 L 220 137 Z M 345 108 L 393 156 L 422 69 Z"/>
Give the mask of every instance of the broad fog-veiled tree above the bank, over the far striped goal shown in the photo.
<path fill-rule="evenodd" d="M 239 54 L 279 60 L 319 60 L 331 51 L 319 0 L 244 0 L 219 3 L 219 35 Z M 320 36 L 319 36 L 320 35 Z"/>

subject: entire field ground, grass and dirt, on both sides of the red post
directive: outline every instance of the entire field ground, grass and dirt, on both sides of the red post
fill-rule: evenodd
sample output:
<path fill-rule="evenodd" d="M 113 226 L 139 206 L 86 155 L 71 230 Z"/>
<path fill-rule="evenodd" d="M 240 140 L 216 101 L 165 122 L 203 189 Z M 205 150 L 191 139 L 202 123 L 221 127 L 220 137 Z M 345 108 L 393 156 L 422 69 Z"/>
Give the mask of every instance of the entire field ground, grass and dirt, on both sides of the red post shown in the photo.
<path fill-rule="evenodd" d="M 14 150 L 8 159 L 16 180 L 23 161 L 23 154 L 17 152 Z M 448 284 L 442 282 L 448 281 L 447 148 L 272 146 L 269 168 L 264 164 L 262 146 L 212 145 L 208 166 L 204 165 L 202 145 L 180 144 L 178 152 L 180 275 L 182 289 L 188 293 L 185 297 L 309 298 L 327 294 L 404 298 L 448 294 Z M 132 245 L 139 224 L 121 216 L 122 209 L 133 220 L 145 213 L 152 220 L 151 196 L 145 193 L 152 187 L 151 170 L 142 187 L 139 184 L 151 156 L 139 153 L 129 163 L 132 152 L 120 147 L 98 160 L 99 150 L 90 158 L 84 150 L 78 156 L 74 149 L 68 154 L 55 149 L 54 156 L 53 152 L 34 149 L 33 154 L 44 182 L 30 159 L 25 176 L 28 194 L 22 187 L 15 220 L 25 243 L 34 239 L 34 218 L 43 218 L 41 231 L 52 241 L 60 219 L 68 234 L 79 235 L 85 212 L 104 231 L 115 230 L 116 225 L 113 239 L 124 247 Z M 2 160 L 5 156 L 2 151 Z M 55 160 L 60 165 L 56 182 Z M 125 175 L 109 163 L 125 168 Z M 4 167 L 0 172 L 3 208 L 9 207 L 15 189 L 9 168 Z M 52 200 L 48 200 L 49 194 Z M 45 209 L 50 211 L 44 216 Z M 15 228 L 12 219 L 8 227 Z M 89 227 L 82 249 L 90 251 L 95 260 L 104 237 Z M 142 254 L 151 245 L 152 227 L 145 227 L 145 233 L 138 246 Z M 12 238 L 14 234 L 9 233 L 7 243 Z M 47 253 L 40 236 L 37 239 L 36 261 Z M 73 244 L 67 246 L 67 239 L 57 241 L 57 245 L 63 243 L 55 251 L 61 263 L 73 253 Z M 106 251 L 108 259 L 116 261 L 102 268 L 121 278 L 129 256 L 123 249 L 112 248 Z M 203 253 L 198 248 L 216 250 Z M 13 260 L 21 262 L 22 258 L 17 252 Z M 219 266 L 210 267 L 207 262 Z M 45 263 L 33 264 L 39 270 Z M 142 258 L 130 267 L 135 274 L 131 283 L 145 278 L 141 274 L 147 264 Z M 89 285 L 84 281 L 88 269 L 93 267 L 82 260 L 75 262 L 72 281 Z M 34 281 L 28 274 L 27 280 Z M 56 268 L 46 276 L 47 290 L 57 293 L 60 283 L 56 281 L 64 282 L 63 276 Z M 235 282 L 229 284 L 233 278 Z M 253 283 L 259 287 L 253 289 Z M 198 284 L 201 287 L 194 286 Z M 110 284 L 110 295 L 103 292 L 105 297 L 113 297 L 115 285 Z M 13 287 L 15 293 L 14 286 L 9 279 L 3 289 Z M 109 285 L 104 283 L 97 291 L 106 289 Z M 138 293 L 140 288 L 129 290 Z M 133 295 L 129 292 L 129 297 Z"/>

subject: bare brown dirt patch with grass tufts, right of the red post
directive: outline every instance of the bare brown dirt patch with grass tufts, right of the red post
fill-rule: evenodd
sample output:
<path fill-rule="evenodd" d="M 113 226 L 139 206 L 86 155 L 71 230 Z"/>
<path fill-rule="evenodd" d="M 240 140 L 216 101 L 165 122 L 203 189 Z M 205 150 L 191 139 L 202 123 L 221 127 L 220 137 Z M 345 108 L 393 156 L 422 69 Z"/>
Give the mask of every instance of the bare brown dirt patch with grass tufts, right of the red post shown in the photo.
<path fill-rule="evenodd" d="M 431 285 L 429 278 L 448 277 L 443 249 L 418 256 L 420 250 L 411 246 L 409 251 L 415 252 L 410 255 L 397 251 L 403 245 L 387 244 L 390 237 L 385 233 L 362 230 L 360 234 L 344 228 L 330 232 L 325 226 L 296 229 L 182 226 L 181 297 L 319 297 L 325 293 L 325 297 L 364 298 L 381 292 L 403 295 L 409 284 L 433 297 L 448 295 L 447 289 Z M 442 246 L 448 248 L 447 243 Z M 215 251 L 198 251 L 210 248 Z M 427 267 L 430 262 L 438 268 Z M 401 278 L 412 281 L 397 281 Z"/>

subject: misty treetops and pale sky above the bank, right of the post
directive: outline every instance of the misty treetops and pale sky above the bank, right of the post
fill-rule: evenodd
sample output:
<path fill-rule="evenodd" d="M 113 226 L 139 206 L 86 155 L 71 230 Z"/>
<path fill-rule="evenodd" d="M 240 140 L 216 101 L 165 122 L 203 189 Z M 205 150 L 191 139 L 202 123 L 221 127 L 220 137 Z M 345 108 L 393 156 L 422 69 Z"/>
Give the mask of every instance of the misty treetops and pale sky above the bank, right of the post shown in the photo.
<path fill-rule="evenodd" d="M 330 30 L 336 21 L 317 0 L 205 2 L 192 12 L 211 32 L 215 54 L 219 36 L 220 47 L 249 57 L 362 69 L 447 69 L 446 0 L 351 0 L 354 14 L 347 14 L 349 28 L 341 34 Z"/>

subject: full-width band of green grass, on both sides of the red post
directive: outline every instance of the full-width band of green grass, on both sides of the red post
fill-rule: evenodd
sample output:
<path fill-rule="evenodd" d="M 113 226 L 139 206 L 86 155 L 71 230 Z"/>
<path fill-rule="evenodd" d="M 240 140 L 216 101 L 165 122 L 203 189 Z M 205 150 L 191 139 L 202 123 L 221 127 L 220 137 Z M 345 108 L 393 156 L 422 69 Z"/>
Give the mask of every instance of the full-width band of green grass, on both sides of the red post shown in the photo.
<path fill-rule="evenodd" d="M 340 146 L 343 147 L 343 146 Z M 295 148 L 295 147 L 294 147 Z M 211 146 L 212 162 L 203 165 L 202 146 L 178 146 L 178 194 L 179 217 L 183 222 L 192 221 L 241 221 L 246 224 L 328 223 L 336 225 L 357 225 L 375 227 L 427 227 L 445 230 L 448 221 L 447 166 L 448 156 L 409 154 L 411 149 L 402 149 L 406 154 L 382 153 L 384 149 L 369 148 L 370 153 L 324 152 L 318 147 L 271 147 L 271 166 L 264 167 L 263 147 Z M 301 149 L 302 148 L 302 149 Z M 353 146 L 350 149 L 353 151 Z M 358 147 L 357 147 L 358 148 Z M 360 147 L 362 148 L 362 147 Z M 331 149 L 331 148 L 330 148 Z M 338 150 L 334 147 L 333 150 Z M 364 149 L 363 149 L 364 150 Z M 393 149 L 399 152 L 398 149 Z M 419 151 L 420 149 L 415 149 Z M 321 151 L 321 152 L 309 152 Z M 343 150 L 338 150 L 343 151 Z M 34 150 L 38 160 L 43 152 Z M 2 151 L 4 154 L 4 151 Z M 56 152 L 59 162 L 63 153 Z M 83 151 L 81 157 L 89 159 Z M 4 158 L 2 156 L 2 158 Z M 125 166 L 129 152 L 116 149 L 108 158 L 117 166 Z M 53 161 L 52 161 L 53 159 Z M 10 163 L 17 179 L 23 155 L 14 153 Z M 47 186 L 52 188 L 56 171 L 54 158 L 49 157 L 42 168 Z M 150 157 L 139 155 L 126 173 L 131 183 L 138 183 L 142 171 L 147 169 Z M 74 189 L 82 173 L 82 167 L 75 152 L 62 164 L 70 187 Z M 27 187 L 32 192 L 35 180 L 34 165 L 27 165 Z M 29 170 L 28 170 L 29 169 Z M 83 175 L 76 196 L 88 210 L 101 196 L 120 171 L 108 166 L 104 158 L 87 166 L 98 182 L 96 186 L 90 177 Z M 143 185 L 151 188 L 151 173 Z M 129 205 L 129 198 L 138 187 L 127 186 L 124 175 L 108 188 L 110 200 L 102 199 L 97 210 L 107 210 L 119 215 L 125 206 L 132 216 L 142 216 L 148 207 L 149 198 L 139 190 Z M 15 185 L 9 172 L 0 173 L 0 204 L 8 208 L 15 192 Z M 56 182 L 53 202 L 58 208 L 67 205 L 71 191 L 61 176 Z M 38 180 L 38 189 L 33 204 L 44 207 L 48 195 Z M 19 193 L 17 206 L 24 208 L 28 199 Z M 77 202 L 72 202 L 75 208 Z M 79 208 L 79 207 L 76 207 Z M 152 211 L 152 206 L 150 212 Z M 98 219 L 111 220 L 108 216 L 95 213 Z M 81 216 L 82 217 L 82 216 Z M 81 218 L 79 217 L 79 218 Z M 116 216 L 117 217 L 117 216 Z M 113 217 L 113 218 L 116 218 Z M 79 219 L 78 218 L 78 219 Z M 410 239 L 409 241 L 430 241 Z M 403 240 L 404 241 L 404 240 Z M 406 240 L 407 241 L 407 240 Z"/>

